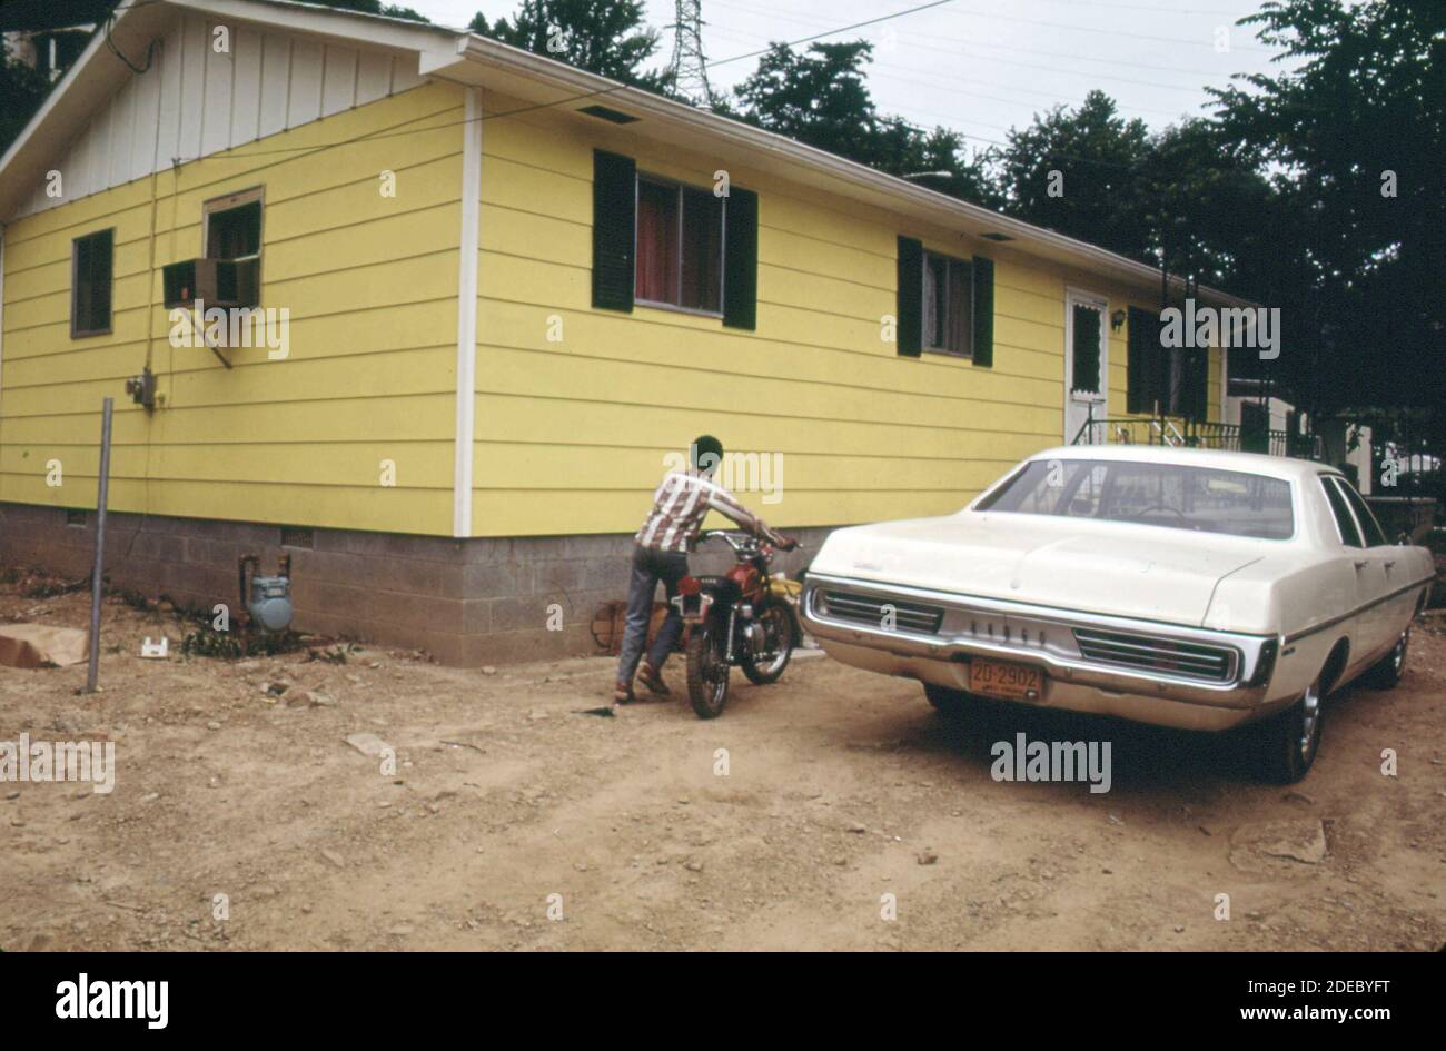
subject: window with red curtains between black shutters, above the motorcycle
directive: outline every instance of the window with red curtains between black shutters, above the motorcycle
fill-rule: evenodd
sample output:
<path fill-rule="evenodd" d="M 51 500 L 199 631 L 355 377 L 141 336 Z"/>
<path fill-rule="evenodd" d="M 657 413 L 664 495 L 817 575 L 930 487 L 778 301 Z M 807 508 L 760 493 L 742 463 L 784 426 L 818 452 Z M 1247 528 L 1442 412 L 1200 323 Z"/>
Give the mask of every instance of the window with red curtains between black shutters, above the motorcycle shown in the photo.
<path fill-rule="evenodd" d="M 639 176 L 636 283 L 639 301 L 719 314 L 723 198 Z"/>

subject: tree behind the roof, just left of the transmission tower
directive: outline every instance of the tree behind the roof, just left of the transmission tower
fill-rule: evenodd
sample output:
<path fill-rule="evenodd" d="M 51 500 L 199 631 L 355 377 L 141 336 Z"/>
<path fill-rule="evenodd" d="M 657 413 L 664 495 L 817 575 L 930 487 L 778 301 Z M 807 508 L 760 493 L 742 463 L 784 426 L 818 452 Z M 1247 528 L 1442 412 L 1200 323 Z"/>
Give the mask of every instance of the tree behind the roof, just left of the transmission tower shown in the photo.
<path fill-rule="evenodd" d="M 642 68 L 659 42 L 643 16 L 642 0 L 522 0 L 510 23 L 502 17 L 489 26 L 479 12 L 470 29 L 600 77 L 661 91 L 665 77 Z"/>

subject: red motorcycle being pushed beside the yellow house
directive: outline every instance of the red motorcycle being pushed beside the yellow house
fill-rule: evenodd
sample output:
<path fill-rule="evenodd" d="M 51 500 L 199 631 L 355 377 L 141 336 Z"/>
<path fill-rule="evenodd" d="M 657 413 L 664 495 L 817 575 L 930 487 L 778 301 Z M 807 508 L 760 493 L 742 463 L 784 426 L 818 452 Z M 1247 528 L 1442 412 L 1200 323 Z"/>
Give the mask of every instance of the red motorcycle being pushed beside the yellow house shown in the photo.
<path fill-rule="evenodd" d="M 698 718 L 717 718 L 736 665 L 755 685 L 777 682 L 801 632 L 788 596 L 792 581 L 771 574 L 774 545 L 749 532 L 711 529 L 736 564 L 722 577 L 684 577 L 672 603 L 687 626 L 688 700 Z M 797 542 L 791 541 L 794 546 Z"/>

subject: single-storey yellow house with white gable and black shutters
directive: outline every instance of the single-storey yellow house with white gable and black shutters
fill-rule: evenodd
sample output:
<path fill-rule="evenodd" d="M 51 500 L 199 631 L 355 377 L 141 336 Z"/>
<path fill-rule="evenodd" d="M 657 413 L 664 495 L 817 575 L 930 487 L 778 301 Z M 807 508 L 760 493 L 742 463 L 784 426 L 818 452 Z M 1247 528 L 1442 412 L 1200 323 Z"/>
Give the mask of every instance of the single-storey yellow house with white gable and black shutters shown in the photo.
<path fill-rule="evenodd" d="M 1155 269 L 283 0 L 123 4 L 0 158 L 0 559 L 85 571 L 113 398 L 113 583 L 208 606 L 286 551 L 299 627 L 455 664 L 580 649 L 700 432 L 807 544 L 1223 402 Z"/>

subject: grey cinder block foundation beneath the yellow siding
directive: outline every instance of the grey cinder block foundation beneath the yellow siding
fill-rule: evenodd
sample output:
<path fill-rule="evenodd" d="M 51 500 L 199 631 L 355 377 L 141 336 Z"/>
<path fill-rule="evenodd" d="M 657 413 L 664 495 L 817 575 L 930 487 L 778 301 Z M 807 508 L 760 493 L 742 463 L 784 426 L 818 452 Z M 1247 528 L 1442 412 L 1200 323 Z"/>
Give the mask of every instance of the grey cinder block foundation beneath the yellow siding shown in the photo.
<path fill-rule="evenodd" d="M 639 520 L 642 512 L 639 509 Z M 0 503 L 0 565 L 90 574 L 95 515 L 67 523 L 58 507 Z M 309 532 L 307 536 L 298 533 Z M 791 531 L 803 549 L 777 567 L 797 577 L 826 528 Z M 632 533 L 450 539 L 350 529 L 286 531 L 250 522 L 111 513 L 106 575 L 114 588 L 182 606 L 239 603 L 243 554 L 270 572 L 292 557 L 294 626 L 388 646 L 419 648 L 442 664 L 477 666 L 596 652 L 597 607 L 626 599 Z M 720 548 L 720 549 L 711 549 Z M 693 555 L 694 572 L 732 562 L 724 545 Z M 661 596 L 659 590 L 659 596 Z M 548 630 L 561 607 L 562 629 Z M 555 619 L 554 619 L 555 620 Z"/>

